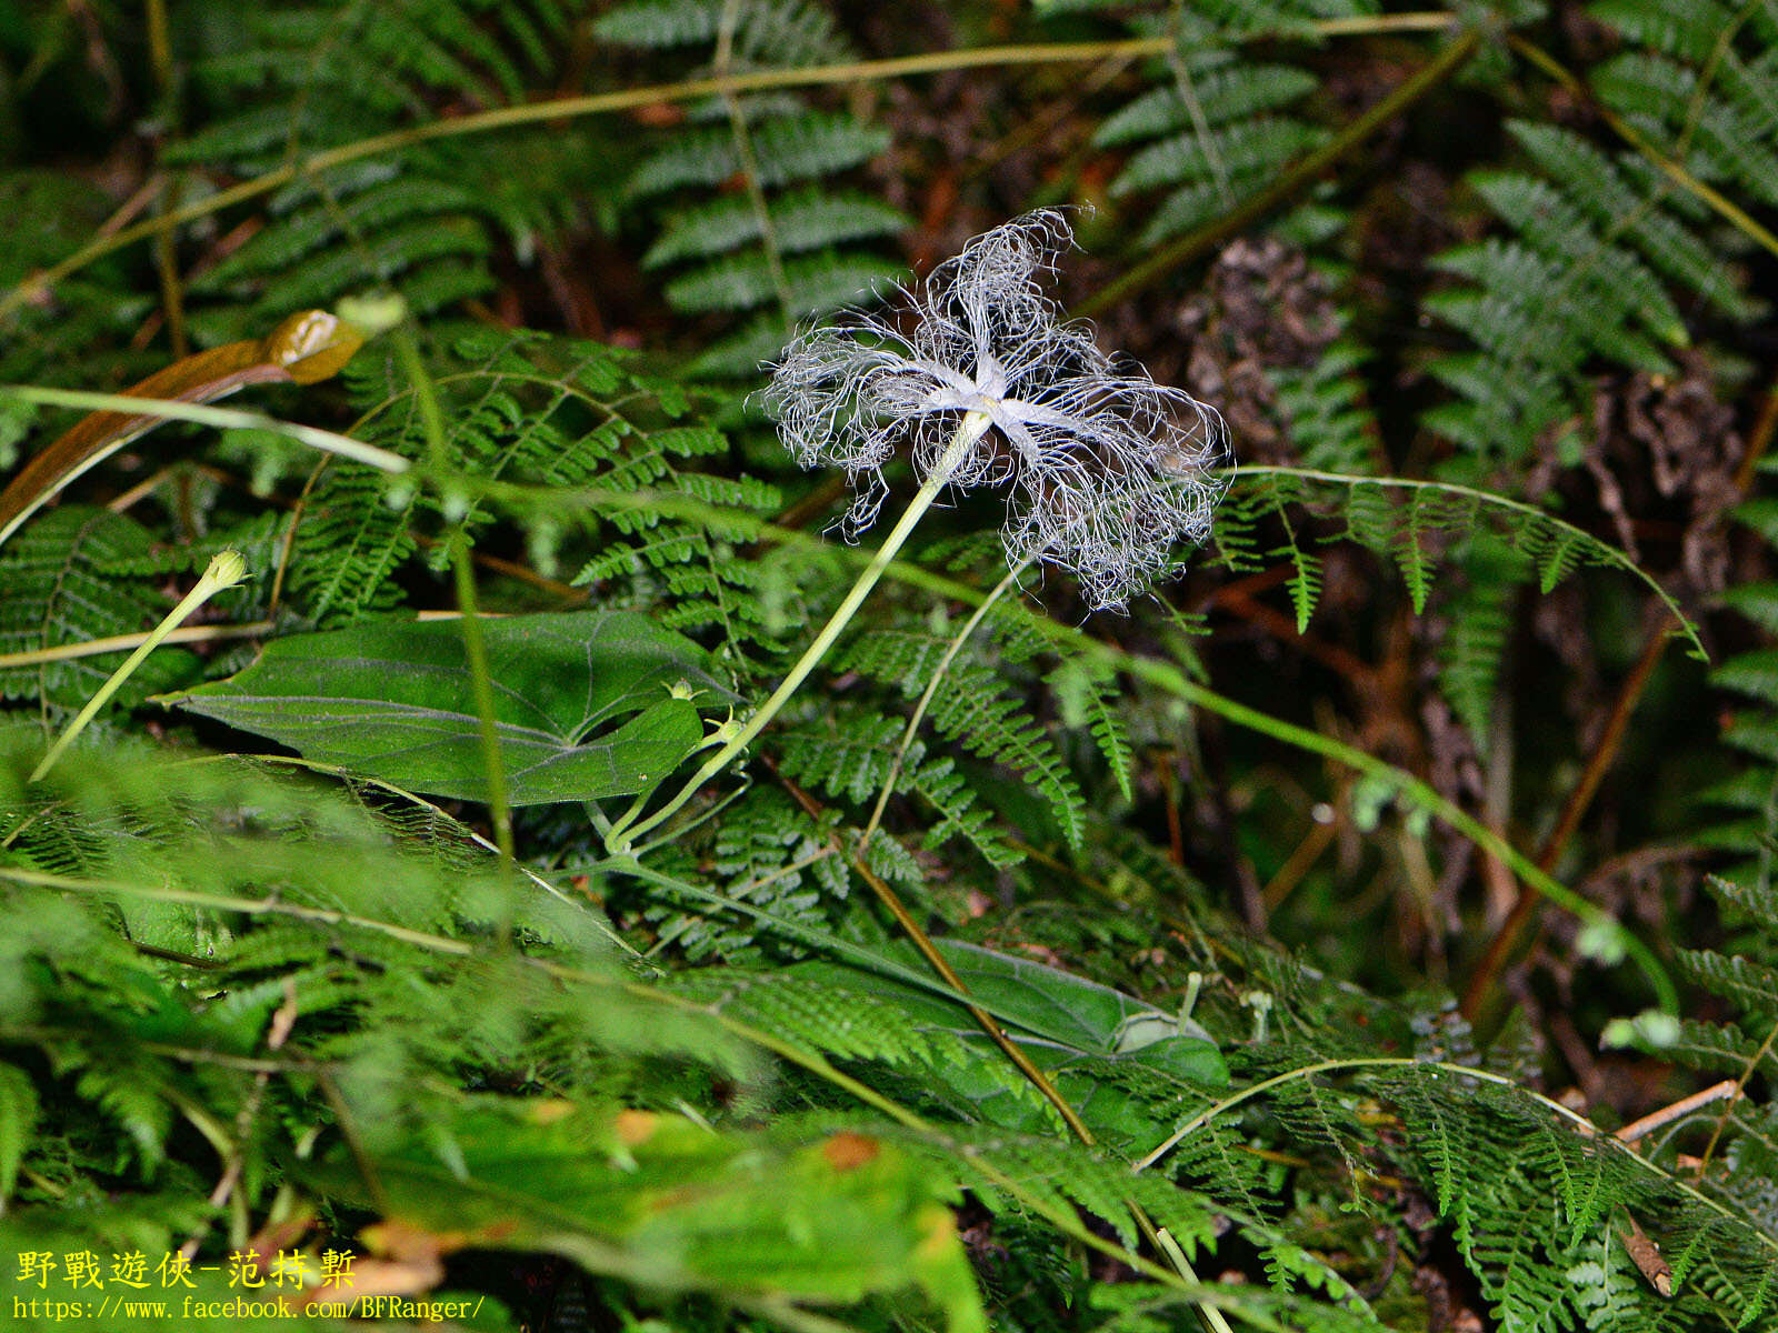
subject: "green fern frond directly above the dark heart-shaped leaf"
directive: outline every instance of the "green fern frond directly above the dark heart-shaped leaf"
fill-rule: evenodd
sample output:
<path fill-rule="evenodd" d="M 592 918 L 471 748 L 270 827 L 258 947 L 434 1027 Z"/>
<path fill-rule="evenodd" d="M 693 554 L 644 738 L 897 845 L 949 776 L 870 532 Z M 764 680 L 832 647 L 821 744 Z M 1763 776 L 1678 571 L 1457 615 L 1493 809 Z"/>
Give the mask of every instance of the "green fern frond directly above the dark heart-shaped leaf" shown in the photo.
<path fill-rule="evenodd" d="M 692 414 L 677 384 L 596 343 L 485 329 L 441 341 L 430 371 L 448 419 L 441 462 L 477 487 L 510 487 L 512 499 L 453 503 L 446 514 L 436 492 L 329 462 L 297 517 L 288 576 L 297 606 L 322 624 L 386 610 L 402 599 L 396 578 L 421 539 L 437 571 L 452 533 L 477 537 L 516 519 L 610 606 L 665 587 L 676 597 L 672 627 L 720 629 L 736 665 L 768 638 L 772 567 L 738 558 L 736 546 L 757 535 L 777 491 L 722 471 L 725 435 Z M 391 354 L 361 355 L 347 382 L 364 412 L 359 439 L 432 460 L 414 389 Z M 644 496 L 658 503 L 631 501 Z"/>

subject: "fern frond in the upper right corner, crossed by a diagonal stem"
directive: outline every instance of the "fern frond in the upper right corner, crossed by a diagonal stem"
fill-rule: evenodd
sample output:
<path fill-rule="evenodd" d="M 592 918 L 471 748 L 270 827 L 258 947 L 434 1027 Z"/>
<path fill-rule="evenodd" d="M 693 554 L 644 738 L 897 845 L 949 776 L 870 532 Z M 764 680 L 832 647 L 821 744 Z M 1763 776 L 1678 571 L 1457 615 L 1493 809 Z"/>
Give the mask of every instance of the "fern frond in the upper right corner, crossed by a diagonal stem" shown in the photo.
<path fill-rule="evenodd" d="M 1623 37 L 1661 48 L 1597 66 L 1598 98 L 1700 180 L 1778 197 L 1771 52 L 1737 50 L 1737 36 L 1757 23 L 1710 2 L 1623 0 L 1593 12 Z M 1510 238 L 1437 259 L 1463 283 L 1431 297 L 1428 309 L 1481 352 L 1431 363 L 1458 402 L 1424 421 L 1479 459 L 1524 467 L 1579 443 L 1579 423 L 1591 419 L 1593 366 L 1664 373 L 1664 348 L 1691 341 L 1682 311 L 1694 300 L 1734 322 L 1753 318 L 1760 304 L 1703 233 L 1696 201 L 1641 155 L 1611 155 L 1549 124 L 1513 121 L 1508 132 L 1542 174 L 1472 176 Z"/>

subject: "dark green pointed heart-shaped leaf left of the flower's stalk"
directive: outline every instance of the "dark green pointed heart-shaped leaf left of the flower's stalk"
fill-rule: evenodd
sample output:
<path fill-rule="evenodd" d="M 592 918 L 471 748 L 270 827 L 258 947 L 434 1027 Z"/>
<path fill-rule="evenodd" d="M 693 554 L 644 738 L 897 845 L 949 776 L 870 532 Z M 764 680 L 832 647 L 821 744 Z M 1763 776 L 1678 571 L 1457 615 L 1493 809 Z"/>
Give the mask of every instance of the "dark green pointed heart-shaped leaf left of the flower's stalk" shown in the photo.
<path fill-rule="evenodd" d="M 482 633 L 512 805 L 645 791 L 702 739 L 697 702 L 729 697 L 702 649 L 635 611 L 491 619 Z M 279 638 L 171 702 L 398 787 L 491 794 L 455 620 Z"/>

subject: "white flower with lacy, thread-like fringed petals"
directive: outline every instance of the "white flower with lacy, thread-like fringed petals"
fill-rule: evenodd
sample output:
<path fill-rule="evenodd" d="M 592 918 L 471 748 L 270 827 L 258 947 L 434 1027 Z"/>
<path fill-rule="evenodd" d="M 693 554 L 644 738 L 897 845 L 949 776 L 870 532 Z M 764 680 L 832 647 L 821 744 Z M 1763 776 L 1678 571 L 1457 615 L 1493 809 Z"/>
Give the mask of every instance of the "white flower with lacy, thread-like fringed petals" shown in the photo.
<path fill-rule="evenodd" d="M 923 482 L 1010 483 L 1006 558 L 1072 569 L 1095 610 L 1177 571 L 1175 547 L 1209 535 L 1223 421 L 1061 322 L 1038 275 L 1072 243 L 1060 212 L 1026 213 L 898 288 L 909 332 L 852 309 L 784 350 L 766 405 L 804 467 L 846 469 L 848 539 L 882 508 L 903 441 Z"/>

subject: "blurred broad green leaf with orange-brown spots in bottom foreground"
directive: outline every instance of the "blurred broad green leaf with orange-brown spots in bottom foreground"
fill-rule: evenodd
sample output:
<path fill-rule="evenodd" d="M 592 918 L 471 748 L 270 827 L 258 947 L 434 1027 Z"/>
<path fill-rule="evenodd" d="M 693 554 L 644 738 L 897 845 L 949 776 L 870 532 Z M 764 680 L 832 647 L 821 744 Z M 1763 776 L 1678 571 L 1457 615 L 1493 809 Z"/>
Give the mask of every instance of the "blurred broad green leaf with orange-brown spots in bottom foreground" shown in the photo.
<path fill-rule="evenodd" d="M 681 1116 L 562 1100 L 471 1102 L 452 1148 L 420 1137 L 370 1168 L 336 1153 L 327 1189 L 423 1237 L 546 1249 L 656 1290 L 852 1305 L 923 1289 L 951 1333 L 985 1333 L 955 1193 L 898 1145 L 855 1130 L 733 1134 Z"/>

